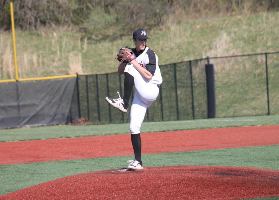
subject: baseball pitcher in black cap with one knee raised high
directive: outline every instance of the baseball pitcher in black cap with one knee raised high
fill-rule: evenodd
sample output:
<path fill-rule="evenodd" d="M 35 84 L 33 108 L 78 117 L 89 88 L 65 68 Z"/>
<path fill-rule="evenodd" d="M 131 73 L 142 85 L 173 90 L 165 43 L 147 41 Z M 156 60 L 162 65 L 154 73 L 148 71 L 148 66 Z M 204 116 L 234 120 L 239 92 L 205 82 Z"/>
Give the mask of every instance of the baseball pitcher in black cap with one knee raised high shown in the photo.
<path fill-rule="evenodd" d="M 158 66 L 158 56 L 146 46 L 147 32 L 144 29 L 137 29 L 133 32 L 135 48 L 121 48 L 117 54 L 119 60 L 118 73 L 124 74 L 124 95 L 121 98 L 106 97 L 113 107 L 122 112 L 127 112 L 128 102 L 135 87 L 135 96 L 130 110 L 130 133 L 135 153 L 135 160 L 129 160 L 128 170 L 142 169 L 141 160 L 141 138 L 140 128 L 146 109 L 156 100 L 159 94 L 159 87 L 162 84 L 162 76 Z"/>

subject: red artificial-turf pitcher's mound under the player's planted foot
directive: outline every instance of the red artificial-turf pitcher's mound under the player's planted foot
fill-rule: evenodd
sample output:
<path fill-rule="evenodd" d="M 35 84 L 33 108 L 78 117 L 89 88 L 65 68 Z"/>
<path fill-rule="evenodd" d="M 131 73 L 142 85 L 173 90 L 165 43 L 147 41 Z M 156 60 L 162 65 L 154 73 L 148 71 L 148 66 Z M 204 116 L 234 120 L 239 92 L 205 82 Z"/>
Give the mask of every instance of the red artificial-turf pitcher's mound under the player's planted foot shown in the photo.
<path fill-rule="evenodd" d="M 171 166 L 78 174 L 5 194 L 0 200 L 231 200 L 275 196 L 279 196 L 276 170 Z"/>

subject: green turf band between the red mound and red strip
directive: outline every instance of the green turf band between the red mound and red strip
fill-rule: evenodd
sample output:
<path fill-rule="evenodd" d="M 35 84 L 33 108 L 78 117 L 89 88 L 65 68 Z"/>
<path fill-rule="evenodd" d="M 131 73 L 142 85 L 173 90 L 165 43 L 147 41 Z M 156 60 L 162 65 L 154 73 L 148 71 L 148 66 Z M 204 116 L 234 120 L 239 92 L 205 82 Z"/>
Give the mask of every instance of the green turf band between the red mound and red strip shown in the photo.
<path fill-rule="evenodd" d="M 127 167 L 133 156 L 0 165 L 0 195 L 54 179 Z M 279 170 L 279 145 L 142 155 L 144 166 L 210 165 Z"/>

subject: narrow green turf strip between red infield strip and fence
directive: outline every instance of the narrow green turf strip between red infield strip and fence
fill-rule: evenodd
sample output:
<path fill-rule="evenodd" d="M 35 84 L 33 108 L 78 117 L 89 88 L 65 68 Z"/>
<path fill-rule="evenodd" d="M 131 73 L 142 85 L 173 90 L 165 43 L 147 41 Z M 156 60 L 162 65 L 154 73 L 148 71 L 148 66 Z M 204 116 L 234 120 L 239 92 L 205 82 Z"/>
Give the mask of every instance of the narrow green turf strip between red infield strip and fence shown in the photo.
<path fill-rule="evenodd" d="M 279 116 L 250 116 L 165 122 L 144 122 L 141 132 L 175 131 L 219 127 L 279 125 Z M 0 130 L 0 142 L 71 138 L 129 133 L 129 124 L 46 126 Z"/>

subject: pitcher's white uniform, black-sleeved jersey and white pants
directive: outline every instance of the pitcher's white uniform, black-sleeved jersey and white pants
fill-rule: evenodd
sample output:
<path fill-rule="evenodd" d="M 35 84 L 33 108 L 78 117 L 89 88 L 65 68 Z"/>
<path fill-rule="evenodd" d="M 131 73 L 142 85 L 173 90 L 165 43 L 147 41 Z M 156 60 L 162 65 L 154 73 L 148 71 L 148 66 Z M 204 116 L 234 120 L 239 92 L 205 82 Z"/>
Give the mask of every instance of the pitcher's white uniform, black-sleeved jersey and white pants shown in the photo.
<path fill-rule="evenodd" d="M 135 60 L 144 69 L 149 71 L 153 76 L 151 80 L 146 80 L 138 71 L 135 69 L 133 64 L 127 64 L 124 72 L 129 73 L 134 77 L 134 87 L 136 90 L 133 103 L 130 110 L 130 133 L 140 133 L 140 127 L 146 109 L 156 100 L 159 94 L 159 86 L 162 84 L 161 71 L 158 66 L 158 56 L 150 48 L 146 48 L 142 51 L 136 52 L 133 49 Z"/>

